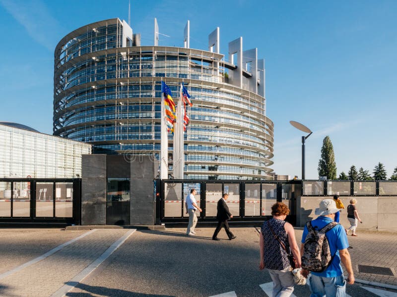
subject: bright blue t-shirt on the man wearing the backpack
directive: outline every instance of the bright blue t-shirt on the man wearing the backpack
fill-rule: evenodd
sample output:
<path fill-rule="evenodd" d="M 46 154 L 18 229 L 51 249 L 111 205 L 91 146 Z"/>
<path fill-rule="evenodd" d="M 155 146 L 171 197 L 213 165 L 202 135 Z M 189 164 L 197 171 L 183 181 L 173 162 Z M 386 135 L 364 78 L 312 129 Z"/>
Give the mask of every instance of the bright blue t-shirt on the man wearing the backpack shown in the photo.
<path fill-rule="evenodd" d="M 312 221 L 312 226 L 315 229 L 321 229 L 331 222 L 332 222 L 331 218 L 325 216 L 319 216 L 317 219 Z M 308 230 L 305 225 L 305 229 L 303 230 L 303 234 L 302 234 L 302 244 L 305 243 L 307 234 L 308 234 Z M 349 247 L 346 232 L 344 231 L 343 226 L 338 224 L 335 227 L 333 227 L 330 231 L 328 231 L 326 233 L 326 236 L 328 239 L 328 243 L 330 244 L 331 256 L 333 254 L 335 254 L 335 256 L 333 257 L 330 266 L 328 266 L 326 270 L 324 270 L 323 272 L 312 272 L 312 274 L 322 277 L 341 276 L 343 274 L 343 270 L 342 270 L 342 266 L 340 266 L 339 250 Z"/>

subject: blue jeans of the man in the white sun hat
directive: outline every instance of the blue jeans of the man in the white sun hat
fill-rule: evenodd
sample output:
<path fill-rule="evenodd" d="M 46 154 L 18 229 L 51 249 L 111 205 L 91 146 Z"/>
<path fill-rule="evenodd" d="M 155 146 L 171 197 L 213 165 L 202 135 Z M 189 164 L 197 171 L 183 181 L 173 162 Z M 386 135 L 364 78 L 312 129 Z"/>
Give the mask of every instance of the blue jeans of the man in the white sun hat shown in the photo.
<path fill-rule="evenodd" d="M 345 297 L 346 281 L 341 276 L 321 277 L 313 275 L 310 277 L 310 297 Z"/>

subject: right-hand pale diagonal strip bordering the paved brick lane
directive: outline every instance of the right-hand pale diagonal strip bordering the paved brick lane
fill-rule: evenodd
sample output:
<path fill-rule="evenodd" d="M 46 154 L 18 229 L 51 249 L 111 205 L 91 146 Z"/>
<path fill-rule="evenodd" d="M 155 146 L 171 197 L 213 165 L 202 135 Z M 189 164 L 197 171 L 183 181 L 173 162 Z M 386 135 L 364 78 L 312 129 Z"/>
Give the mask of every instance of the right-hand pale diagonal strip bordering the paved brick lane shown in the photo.
<path fill-rule="evenodd" d="M 103 252 L 94 262 L 84 268 L 80 273 L 75 275 L 63 287 L 55 292 L 51 297 L 64 297 L 71 289 L 77 286 L 83 279 L 85 279 L 92 271 L 94 271 L 103 261 L 105 261 L 116 249 L 118 249 L 124 242 L 134 233 L 136 229 L 128 231 L 125 235 L 115 241 L 107 250 Z M 231 296 L 232 297 L 232 296 Z M 236 296 L 237 297 L 237 296 Z"/>

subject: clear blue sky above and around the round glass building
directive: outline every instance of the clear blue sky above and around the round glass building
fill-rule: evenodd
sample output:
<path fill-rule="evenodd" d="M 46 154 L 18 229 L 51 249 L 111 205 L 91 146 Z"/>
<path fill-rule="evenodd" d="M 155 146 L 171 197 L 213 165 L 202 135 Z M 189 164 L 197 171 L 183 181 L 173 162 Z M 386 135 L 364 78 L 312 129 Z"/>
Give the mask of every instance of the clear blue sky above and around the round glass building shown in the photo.
<path fill-rule="evenodd" d="M 131 1 L 131 26 L 142 45 L 182 46 L 191 22 L 191 48 L 206 49 L 220 27 L 221 52 L 243 37 L 265 58 L 266 113 L 274 122 L 278 174 L 317 178 L 322 141 L 331 137 L 337 173 L 350 165 L 388 176 L 397 166 L 397 1 Z M 128 0 L 0 0 L 0 120 L 52 133 L 54 49 L 70 31 L 98 20 L 128 20 Z"/>

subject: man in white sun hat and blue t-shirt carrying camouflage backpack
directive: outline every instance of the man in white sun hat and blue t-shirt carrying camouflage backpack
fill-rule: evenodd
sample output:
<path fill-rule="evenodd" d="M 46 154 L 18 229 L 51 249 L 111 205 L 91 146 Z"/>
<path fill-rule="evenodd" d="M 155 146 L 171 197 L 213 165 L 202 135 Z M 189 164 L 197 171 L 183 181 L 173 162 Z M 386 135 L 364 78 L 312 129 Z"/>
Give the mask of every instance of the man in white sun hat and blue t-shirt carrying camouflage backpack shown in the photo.
<path fill-rule="evenodd" d="M 311 272 L 311 297 L 345 297 L 346 281 L 340 262 L 346 268 L 347 283 L 354 283 L 353 268 L 347 250 L 346 232 L 342 225 L 334 222 L 339 211 L 335 201 L 324 199 L 315 214 L 319 217 L 307 222 L 302 235 L 302 275 Z"/>

